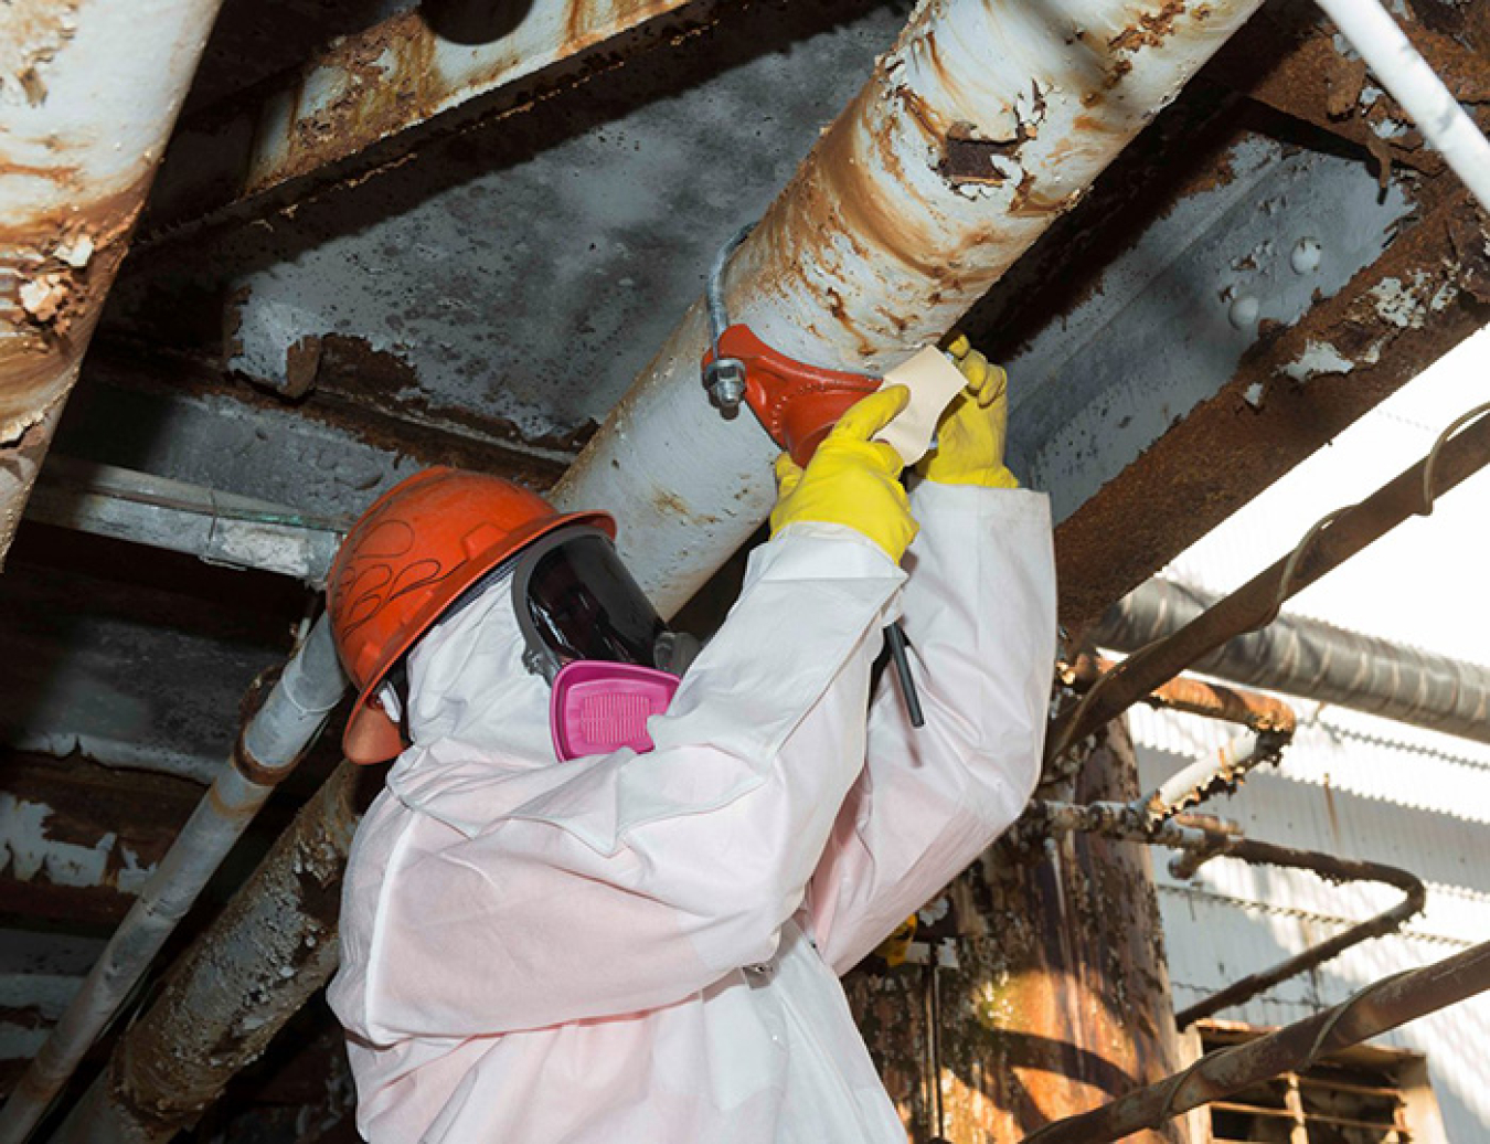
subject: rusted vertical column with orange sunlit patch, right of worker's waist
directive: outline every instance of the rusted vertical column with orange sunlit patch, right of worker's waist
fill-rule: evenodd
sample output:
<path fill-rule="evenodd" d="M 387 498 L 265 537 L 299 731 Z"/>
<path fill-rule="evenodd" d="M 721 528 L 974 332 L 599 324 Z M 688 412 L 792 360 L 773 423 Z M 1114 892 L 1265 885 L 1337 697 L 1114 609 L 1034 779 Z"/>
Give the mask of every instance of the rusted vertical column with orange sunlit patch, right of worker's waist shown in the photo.
<path fill-rule="evenodd" d="M 1083 799 L 1138 793 L 1126 732 L 1088 758 Z M 955 968 L 936 969 L 946 1137 L 991 1144 L 1173 1071 L 1180 1060 L 1149 852 L 1065 835 L 997 843 L 949 889 Z M 881 1075 L 913 1129 L 934 1126 L 921 967 L 846 987 Z M 1182 1141 L 1182 1126 L 1135 1138 Z"/>

